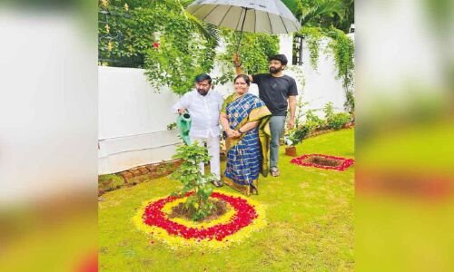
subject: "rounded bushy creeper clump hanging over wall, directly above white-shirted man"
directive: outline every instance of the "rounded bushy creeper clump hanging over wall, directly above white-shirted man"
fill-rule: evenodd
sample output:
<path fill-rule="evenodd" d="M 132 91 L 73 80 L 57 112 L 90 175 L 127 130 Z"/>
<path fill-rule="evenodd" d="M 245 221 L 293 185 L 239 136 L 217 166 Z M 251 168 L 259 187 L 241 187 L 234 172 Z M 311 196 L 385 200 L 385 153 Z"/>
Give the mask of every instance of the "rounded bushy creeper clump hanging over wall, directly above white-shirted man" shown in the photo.
<path fill-rule="evenodd" d="M 145 75 L 156 89 L 166 85 L 183 95 L 197 74 L 212 71 L 216 42 L 204 39 L 182 12 L 167 12 L 159 24 L 162 34 L 146 51 Z"/>

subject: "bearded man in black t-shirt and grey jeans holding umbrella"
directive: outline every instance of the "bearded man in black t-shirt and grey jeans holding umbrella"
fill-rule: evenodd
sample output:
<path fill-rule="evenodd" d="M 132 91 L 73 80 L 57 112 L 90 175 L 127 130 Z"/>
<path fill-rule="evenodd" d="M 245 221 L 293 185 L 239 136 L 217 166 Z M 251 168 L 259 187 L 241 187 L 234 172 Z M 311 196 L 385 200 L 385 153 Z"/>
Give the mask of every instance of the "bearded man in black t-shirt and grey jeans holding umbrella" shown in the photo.
<path fill-rule="evenodd" d="M 233 63 L 237 74 L 242 73 L 242 64 L 239 56 L 233 55 Z M 295 80 L 282 73 L 287 65 L 284 54 L 276 54 L 270 57 L 270 73 L 249 75 L 251 82 L 259 86 L 259 96 L 272 113 L 270 120 L 271 149 L 270 171 L 273 177 L 280 175 L 278 169 L 279 141 L 284 130 L 287 108 L 290 105 L 290 119 L 287 123 L 289 129 L 295 124 L 296 96 L 298 90 Z"/>

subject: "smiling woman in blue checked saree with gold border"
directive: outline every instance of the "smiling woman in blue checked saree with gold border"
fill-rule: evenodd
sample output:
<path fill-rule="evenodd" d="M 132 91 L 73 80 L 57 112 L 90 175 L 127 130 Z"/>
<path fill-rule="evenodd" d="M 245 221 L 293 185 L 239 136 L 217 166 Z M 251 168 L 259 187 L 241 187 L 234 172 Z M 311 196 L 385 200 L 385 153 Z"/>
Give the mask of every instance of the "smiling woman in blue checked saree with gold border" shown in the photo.
<path fill-rule="evenodd" d="M 235 92 L 222 105 L 220 121 L 227 134 L 225 184 L 246 195 L 258 194 L 259 173 L 268 174 L 271 112 L 262 100 L 249 93 L 246 74 L 235 77 Z"/>

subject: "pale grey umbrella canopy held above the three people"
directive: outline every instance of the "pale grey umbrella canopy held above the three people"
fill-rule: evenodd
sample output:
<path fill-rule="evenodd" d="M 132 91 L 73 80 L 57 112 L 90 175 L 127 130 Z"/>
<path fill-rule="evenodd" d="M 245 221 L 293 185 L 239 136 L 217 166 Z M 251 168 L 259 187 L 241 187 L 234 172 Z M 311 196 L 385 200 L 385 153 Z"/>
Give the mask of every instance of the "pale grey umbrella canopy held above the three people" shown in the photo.
<path fill-rule="evenodd" d="M 288 34 L 301 28 L 279 0 L 196 0 L 187 10 L 202 21 L 242 32 Z"/>

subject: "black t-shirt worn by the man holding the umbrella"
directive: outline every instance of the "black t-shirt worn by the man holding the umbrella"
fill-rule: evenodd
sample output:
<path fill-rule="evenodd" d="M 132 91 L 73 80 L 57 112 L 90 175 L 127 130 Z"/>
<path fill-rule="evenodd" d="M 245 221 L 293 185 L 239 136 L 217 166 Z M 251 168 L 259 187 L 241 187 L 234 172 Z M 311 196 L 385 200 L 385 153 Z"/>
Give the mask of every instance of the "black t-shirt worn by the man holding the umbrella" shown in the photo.
<path fill-rule="evenodd" d="M 289 96 L 298 95 L 295 80 L 288 75 L 274 77 L 270 73 L 252 75 L 259 85 L 259 96 L 274 116 L 286 116 Z"/>

